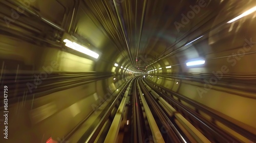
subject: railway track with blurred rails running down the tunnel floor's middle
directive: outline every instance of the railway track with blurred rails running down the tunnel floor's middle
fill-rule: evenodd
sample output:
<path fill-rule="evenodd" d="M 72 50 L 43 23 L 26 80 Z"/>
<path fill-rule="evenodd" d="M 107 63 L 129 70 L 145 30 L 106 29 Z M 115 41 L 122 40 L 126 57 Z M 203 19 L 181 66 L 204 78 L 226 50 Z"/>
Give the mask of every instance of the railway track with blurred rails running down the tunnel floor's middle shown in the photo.
<path fill-rule="evenodd" d="M 242 142 L 167 92 L 143 77 L 127 81 L 78 142 Z"/>

